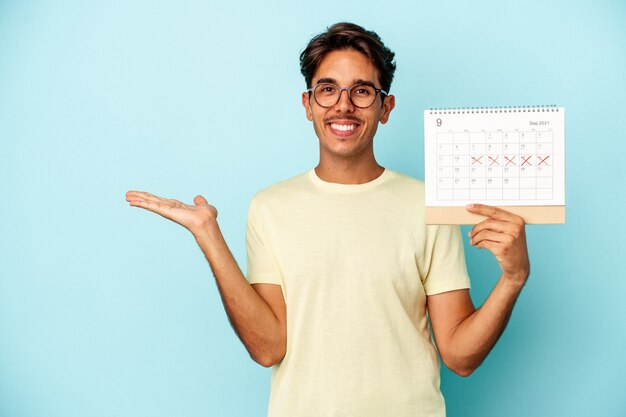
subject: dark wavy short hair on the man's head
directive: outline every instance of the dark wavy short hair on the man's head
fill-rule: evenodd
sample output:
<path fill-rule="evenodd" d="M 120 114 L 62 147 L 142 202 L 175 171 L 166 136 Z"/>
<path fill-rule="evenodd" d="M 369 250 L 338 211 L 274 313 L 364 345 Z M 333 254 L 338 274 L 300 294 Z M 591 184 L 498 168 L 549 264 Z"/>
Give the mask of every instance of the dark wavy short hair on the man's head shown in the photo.
<path fill-rule="evenodd" d="M 304 75 L 307 88 L 322 59 L 327 53 L 341 49 L 354 49 L 365 55 L 376 67 L 383 90 L 389 91 L 396 63 L 394 53 L 387 48 L 380 37 L 354 23 L 341 22 L 328 27 L 326 32 L 315 36 L 300 54 L 300 72 Z"/>

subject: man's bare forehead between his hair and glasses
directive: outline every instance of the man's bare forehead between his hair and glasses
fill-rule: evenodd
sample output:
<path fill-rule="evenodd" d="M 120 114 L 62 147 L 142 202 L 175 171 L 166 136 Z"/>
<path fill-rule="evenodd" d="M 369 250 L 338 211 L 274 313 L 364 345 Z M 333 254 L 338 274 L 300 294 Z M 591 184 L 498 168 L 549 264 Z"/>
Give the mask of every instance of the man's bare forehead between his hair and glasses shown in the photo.
<path fill-rule="evenodd" d="M 342 49 L 326 54 L 313 76 L 313 84 L 321 78 L 330 78 L 342 86 L 355 80 L 367 80 L 378 85 L 378 70 L 362 53 L 354 49 Z"/>

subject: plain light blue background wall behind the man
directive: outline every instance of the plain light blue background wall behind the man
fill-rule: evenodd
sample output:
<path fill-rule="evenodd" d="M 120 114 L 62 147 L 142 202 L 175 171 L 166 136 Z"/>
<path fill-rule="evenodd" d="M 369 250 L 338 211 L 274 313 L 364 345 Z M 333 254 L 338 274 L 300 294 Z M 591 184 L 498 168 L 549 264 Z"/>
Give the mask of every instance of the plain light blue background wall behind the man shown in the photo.
<path fill-rule="evenodd" d="M 528 227 L 531 279 L 482 367 L 443 371 L 449 415 L 626 415 L 625 2 L 4 0 L 0 416 L 265 415 L 192 236 L 124 193 L 205 195 L 245 266 L 250 197 L 317 163 L 298 55 L 340 20 L 397 54 L 391 169 L 423 178 L 425 108 L 567 110 L 567 224 Z M 466 254 L 480 304 L 499 270 Z"/>

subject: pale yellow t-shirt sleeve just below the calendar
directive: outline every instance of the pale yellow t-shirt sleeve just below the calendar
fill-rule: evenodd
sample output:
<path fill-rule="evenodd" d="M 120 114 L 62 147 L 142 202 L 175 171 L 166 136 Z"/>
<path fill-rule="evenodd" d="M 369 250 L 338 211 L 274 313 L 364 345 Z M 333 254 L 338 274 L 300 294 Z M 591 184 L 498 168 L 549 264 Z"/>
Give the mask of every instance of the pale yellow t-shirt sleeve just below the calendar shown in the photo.
<path fill-rule="evenodd" d="M 423 279 L 426 295 L 470 288 L 459 226 L 427 226 L 430 257 Z"/>

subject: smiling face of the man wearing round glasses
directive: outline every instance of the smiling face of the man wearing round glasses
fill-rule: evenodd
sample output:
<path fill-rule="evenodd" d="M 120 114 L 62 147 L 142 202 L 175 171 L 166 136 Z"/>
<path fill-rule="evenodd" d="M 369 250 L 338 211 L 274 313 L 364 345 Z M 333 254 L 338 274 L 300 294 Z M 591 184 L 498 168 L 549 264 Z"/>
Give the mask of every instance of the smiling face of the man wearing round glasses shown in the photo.
<path fill-rule="evenodd" d="M 312 86 L 328 82 L 341 88 L 366 81 L 380 88 L 378 70 L 369 59 L 353 49 L 329 52 L 312 79 Z M 378 123 L 386 123 L 395 105 L 393 96 L 378 94 L 370 107 L 355 107 L 342 91 L 339 102 L 332 107 L 321 107 L 313 93 L 302 94 L 302 104 L 307 118 L 313 122 L 320 141 L 320 160 L 340 157 L 342 159 L 367 158 L 374 155 L 373 140 Z"/>

